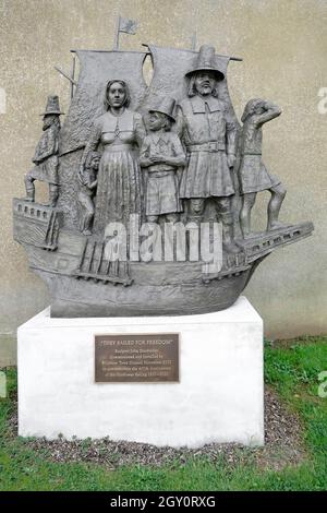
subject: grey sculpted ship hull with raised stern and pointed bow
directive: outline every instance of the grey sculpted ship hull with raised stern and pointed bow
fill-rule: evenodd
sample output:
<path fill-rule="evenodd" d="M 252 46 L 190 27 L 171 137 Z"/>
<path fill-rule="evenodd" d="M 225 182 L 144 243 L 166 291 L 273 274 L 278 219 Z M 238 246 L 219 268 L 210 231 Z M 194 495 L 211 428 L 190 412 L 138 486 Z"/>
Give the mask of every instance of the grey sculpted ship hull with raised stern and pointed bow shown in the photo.
<path fill-rule="evenodd" d="M 308 237 L 312 223 L 239 239 L 240 253 L 225 254 L 221 269 L 203 262 L 119 261 L 106 242 L 62 227 L 56 208 L 14 200 L 14 238 L 29 267 L 48 285 L 51 317 L 192 315 L 235 302 L 257 265 L 279 247 Z"/>

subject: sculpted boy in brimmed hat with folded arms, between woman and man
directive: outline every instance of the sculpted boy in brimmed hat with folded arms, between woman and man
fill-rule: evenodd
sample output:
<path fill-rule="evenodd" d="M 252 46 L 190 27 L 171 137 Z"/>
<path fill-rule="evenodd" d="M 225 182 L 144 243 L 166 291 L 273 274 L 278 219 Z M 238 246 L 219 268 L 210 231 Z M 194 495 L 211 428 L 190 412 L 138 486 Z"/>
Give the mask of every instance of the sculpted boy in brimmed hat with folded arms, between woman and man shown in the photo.
<path fill-rule="evenodd" d="M 148 223 L 165 216 L 175 223 L 183 211 L 179 195 L 177 169 L 186 163 L 185 153 L 177 133 L 172 116 L 174 99 L 164 98 L 156 109 L 149 110 L 150 133 L 144 139 L 140 165 L 147 170 L 145 213 Z"/>

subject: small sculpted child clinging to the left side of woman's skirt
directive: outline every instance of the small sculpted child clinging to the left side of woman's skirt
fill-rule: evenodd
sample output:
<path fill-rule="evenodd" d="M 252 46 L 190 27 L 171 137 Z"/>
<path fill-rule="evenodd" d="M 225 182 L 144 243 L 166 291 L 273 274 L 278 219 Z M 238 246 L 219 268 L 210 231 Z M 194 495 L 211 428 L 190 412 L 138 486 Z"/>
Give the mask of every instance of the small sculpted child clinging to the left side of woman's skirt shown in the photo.
<path fill-rule="evenodd" d="M 85 162 L 83 176 L 80 179 L 81 190 L 78 192 L 78 203 L 81 205 L 82 215 L 80 229 L 84 235 L 92 235 L 92 223 L 94 218 L 94 196 L 97 188 L 97 172 L 99 168 L 100 154 L 90 152 Z"/>

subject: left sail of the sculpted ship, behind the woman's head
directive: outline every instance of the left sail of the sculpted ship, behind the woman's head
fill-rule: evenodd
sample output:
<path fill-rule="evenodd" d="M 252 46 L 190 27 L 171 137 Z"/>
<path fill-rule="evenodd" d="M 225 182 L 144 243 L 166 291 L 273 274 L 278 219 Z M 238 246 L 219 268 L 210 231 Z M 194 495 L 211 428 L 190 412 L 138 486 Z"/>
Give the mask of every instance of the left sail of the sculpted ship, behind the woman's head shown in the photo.
<path fill-rule="evenodd" d="M 60 133 L 61 155 L 83 147 L 95 118 L 104 114 L 106 84 L 124 80 L 131 93 L 131 108 L 137 109 L 147 85 L 143 79 L 145 51 L 76 50 L 81 64 L 78 85 Z"/>

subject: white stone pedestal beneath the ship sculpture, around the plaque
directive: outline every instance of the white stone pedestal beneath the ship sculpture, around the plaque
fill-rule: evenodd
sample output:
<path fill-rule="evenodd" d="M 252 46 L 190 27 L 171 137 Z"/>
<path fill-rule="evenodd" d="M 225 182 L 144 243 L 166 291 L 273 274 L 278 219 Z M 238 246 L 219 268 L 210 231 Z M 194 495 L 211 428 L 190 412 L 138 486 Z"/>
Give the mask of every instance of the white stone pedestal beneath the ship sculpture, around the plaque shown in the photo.
<path fill-rule="evenodd" d="M 179 383 L 95 383 L 94 335 L 180 333 Z M 51 319 L 20 326 L 19 433 L 196 448 L 264 443 L 263 321 L 246 298 L 217 313 Z"/>

